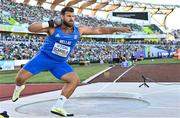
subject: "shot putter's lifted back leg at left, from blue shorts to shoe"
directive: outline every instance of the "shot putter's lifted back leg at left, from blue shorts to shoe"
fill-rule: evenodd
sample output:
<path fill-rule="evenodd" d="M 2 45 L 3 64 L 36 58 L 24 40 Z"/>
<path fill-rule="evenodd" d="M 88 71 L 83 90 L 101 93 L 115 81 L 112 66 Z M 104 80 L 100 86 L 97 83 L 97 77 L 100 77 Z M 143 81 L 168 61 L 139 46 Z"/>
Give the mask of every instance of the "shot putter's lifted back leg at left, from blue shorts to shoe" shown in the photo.
<path fill-rule="evenodd" d="M 48 66 L 49 65 L 49 66 Z M 12 101 L 18 100 L 21 92 L 25 88 L 25 82 L 31 76 L 43 71 L 48 70 L 52 65 L 51 60 L 49 60 L 43 53 L 38 53 L 34 58 L 32 58 L 17 74 L 16 76 L 16 87 L 14 89 Z"/>

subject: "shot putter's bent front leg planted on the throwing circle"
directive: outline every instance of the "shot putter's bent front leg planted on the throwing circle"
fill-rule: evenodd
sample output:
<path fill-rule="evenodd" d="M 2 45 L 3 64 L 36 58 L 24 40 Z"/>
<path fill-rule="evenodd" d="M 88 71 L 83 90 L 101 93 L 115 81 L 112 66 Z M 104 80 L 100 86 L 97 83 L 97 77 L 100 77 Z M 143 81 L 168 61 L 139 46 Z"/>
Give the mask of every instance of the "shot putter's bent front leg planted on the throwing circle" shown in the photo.
<path fill-rule="evenodd" d="M 74 70 L 65 62 L 58 65 L 57 68 L 51 70 L 51 73 L 56 78 L 65 81 L 61 95 L 56 101 L 56 103 L 53 105 L 51 112 L 62 116 L 72 116 L 73 114 L 67 113 L 63 109 L 63 106 L 66 100 L 72 95 L 72 93 L 80 83 L 80 79 L 74 72 Z"/>

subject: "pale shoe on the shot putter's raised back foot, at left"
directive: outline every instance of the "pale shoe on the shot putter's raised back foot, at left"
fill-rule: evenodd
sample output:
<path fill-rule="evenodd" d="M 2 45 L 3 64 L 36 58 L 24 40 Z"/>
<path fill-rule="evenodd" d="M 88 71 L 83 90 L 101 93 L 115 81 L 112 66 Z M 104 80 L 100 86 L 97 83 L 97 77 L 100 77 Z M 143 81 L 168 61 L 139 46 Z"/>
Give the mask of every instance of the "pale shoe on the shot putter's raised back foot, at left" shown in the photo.
<path fill-rule="evenodd" d="M 20 94 L 21 94 L 21 92 L 24 90 L 24 88 L 25 88 L 25 85 L 22 85 L 22 86 L 20 86 L 20 88 L 18 88 L 18 89 L 14 89 L 14 93 L 13 93 L 13 96 L 12 96 L 12 101 L 13 102 L 16 102 L 18 99 L 19 99 L 19 96 L 20 96 Z"/>

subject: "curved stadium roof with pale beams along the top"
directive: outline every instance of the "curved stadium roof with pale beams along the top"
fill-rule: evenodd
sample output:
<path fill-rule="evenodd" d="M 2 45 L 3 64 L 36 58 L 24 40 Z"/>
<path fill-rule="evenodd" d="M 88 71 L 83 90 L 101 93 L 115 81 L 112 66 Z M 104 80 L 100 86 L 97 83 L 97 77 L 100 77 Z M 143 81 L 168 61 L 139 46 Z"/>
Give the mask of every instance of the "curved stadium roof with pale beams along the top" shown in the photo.
<path fill-rule="evenodd" d="M 14 0 L 16 1 L 16 0 Z M 17 0 L 18 1 L 18 0 Z M 127 0 L 24 0 L 24 4 L 29 4 L 35 1 L 36 5 L 42 6 L 44 3 L 50 5 L 51 10 L 56 10 L 57 6 L 72 6 L 77 10 L 78 14 L 83 14 L 84 10 L 90 10 L 91 16 L 96 16 L 97 12 L 101 11 L 109 16 L 111 11 L 145 11 L 149 12 L 160 27 L 167 29 L 166 19 L 180 5 L 164 5 L 164 4 L 151 4 L 142 2 L 133 2 Z M 163 0 L 162 0 L 163 2 Z M 162 20 L 156 19 L 155 15 L 161 15 Z"/>

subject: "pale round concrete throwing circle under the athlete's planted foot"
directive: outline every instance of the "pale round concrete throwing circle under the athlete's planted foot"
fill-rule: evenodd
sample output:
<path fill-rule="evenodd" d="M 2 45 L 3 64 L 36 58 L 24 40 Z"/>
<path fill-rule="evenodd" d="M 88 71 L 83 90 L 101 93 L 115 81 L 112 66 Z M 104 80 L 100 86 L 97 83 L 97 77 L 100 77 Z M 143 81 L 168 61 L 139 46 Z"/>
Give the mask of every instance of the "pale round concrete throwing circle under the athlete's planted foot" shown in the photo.
<path fill-rule="evenodd" d="M 56 100 L 47 100 L 25 104 L 16 111 L 31 116 L 54 116 L 50 109 Z M 136 98 L 122 97 L 73 97 L 65 104 L 68 112 L 81 117 L 115 117 L 122 113 L 139 110 L 149 106 L 149 103 Z"/>

